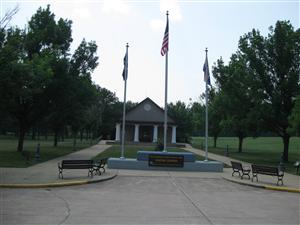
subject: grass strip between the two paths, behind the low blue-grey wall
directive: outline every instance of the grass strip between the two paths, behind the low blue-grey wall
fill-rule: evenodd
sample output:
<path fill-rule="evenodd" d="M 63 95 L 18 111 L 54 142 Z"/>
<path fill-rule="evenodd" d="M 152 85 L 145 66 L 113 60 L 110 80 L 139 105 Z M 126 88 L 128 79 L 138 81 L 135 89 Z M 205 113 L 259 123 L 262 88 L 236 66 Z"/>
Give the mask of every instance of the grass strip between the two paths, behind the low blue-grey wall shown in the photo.
<path fill-rule="evenodd" d="M 155 146 L 136 146 L 136 145 L 126 145 L 124 149 L 125 158 L 136 158 L 138 151 L 155 151 Z M 187 152 L 180 148 L 168 148 L 168 152 Z M 104 152 L 100 153 L 93 159 L 99 161 L 101 158 L 112 157 L 120 158 L 121 156 L 121 146 L 113 145 L 110 148 L 106 149 Z M 204 160 L 202 156 L 196 155 L 196 160 Z"/>

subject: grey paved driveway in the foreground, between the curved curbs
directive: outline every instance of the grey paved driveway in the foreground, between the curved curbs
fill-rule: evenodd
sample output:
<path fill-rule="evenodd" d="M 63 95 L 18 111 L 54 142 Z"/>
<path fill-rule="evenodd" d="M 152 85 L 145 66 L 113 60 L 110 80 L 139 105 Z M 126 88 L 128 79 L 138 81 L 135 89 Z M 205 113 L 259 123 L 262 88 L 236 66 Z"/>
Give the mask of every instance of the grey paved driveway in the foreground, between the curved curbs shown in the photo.
<path fill-rule="evenodd" d="M 196 173 L 124 170 L 101 183 L 0 192 L 1 225 L 300 223 L 297 193 Z"/>

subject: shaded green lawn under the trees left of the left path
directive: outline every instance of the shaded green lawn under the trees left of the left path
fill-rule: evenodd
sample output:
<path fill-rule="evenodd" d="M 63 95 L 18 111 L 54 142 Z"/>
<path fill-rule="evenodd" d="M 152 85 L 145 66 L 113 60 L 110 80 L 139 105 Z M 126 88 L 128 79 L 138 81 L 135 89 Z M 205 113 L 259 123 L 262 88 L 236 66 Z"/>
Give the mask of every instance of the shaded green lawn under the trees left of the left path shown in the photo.
<path fill-rule="evenodd" d="M 38 162 L 48 161 L 63 155 L 74 152 L 73 139 L 65 139 L 64 142 L 59 142 L 57 147 L 53 147 L 53 140 L 40 140 L 40 160 Z M 36 164 L 35 152 L 37 140 L 25 140 L 24 152 L 28 157 L 17 152 L 18 140 L 14 137 L 0 137 L 0 167 L 28 167 Z M 90 146 L 89 141 L 80 142 L 77 140 L 76 150 L 80 150 Z"/>

